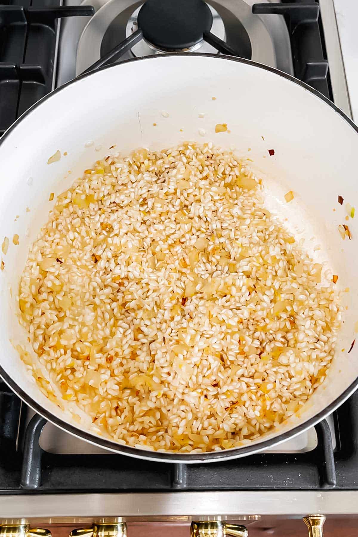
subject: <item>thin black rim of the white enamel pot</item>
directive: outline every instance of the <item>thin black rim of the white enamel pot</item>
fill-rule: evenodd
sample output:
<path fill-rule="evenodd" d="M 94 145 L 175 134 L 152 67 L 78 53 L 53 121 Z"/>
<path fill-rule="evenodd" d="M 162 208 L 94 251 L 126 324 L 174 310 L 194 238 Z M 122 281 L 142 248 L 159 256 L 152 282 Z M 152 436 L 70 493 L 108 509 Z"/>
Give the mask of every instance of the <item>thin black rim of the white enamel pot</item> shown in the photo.
<path fill-rule="evenodd" d="M 40 106 L 45 100 L 51 98 L 55 93 L 58 93 L 62 91 L 64 88 L 69 86 L 70 84 L 75 84 L 78 80 L 84 79 L 86 77 L 89 77 L 91 75 L 96 74 L 98 71 L 103 71 L 105 69 L 116 69 L 120 68 L 123 63 L 132 63 L 132 62 L 144 62 L 144 61 L 151 61 L 151 60 L 157 60 L 162 59 L 167 56 L 172 57 L 211 57 L 217 60 L 227 60 L 237 63 L 244 63 L 246 65 L 251 65 L 258 69 L 264 69 L 266 71 L 271 71 L 275 75 L 280 76 L 282 78 L 286 78 L 290 82 L 293 82 L 294 84 L 297 84 L 298 86 L 301 86 L 304 90 L 309 91 L 319 99 L 323 100 L 328 106 L 333 108 L 335 112 L 337 112 L 342 119 L 344 119 L 350 127 L 352 127 L 355 132 L 358 134 L 358 127 L 354 124 L 352 119 L 350 119 L 345 112 L 340 110 L 338 106 L 336 106 L 330 99 L 325 97 L 322 93 L 315 90 L 314 88 L 311 88 L 308 84 L 305 82 L 300 81 L 299 79 L 295 78 L 294 76 L 291 76 L 283 71 L 280 71 L 279 69 L 276 69 L 274 67 L 265 66 L 264 64 L 253 62 L 252 60 L 246 60 L 244 58 L 239 57 L 233 57 L 233 56 L 227 56 L 223 54 L 203 54 L 203 53 L 173 53 L 173 54 L 159 54 L 155 56 L 145 56 L 142 58 L 131 58 L 129 60 L 124 60 L 120 63 L 111 64 L 109 66 L 101 67 L 95 71 L 86 72 L 83 75 L 79 75 L 78 77 L 72 79 L 71 81 L 63 84 L 59 88 L 56 88 L 54 91 L 48 93 L 45 97 L 42 97 L 39 101 L 37 101 L 35 104 L 33 104 L 26 112 L 24 112 L 20 117 L 14 121 L 14 123 L 8 128 L 8 130 L 5 131 L 3 136 L 0 139 L 0 149 L 2 143 L 5 141 L 6 137 L 8 137 L 13 129 L 17 127 L 19 122 L 23 120 L 28 114 L 31 114 L 38 106 Z M 0 364 L 0 376 L 3 378 L 6 384 L 14 391 L 18 397 L 20 397 L 21 400 L 24 401 L 30 408 L 32 408 L 35 412 L 37 412 L 40 416 L 47 419 L 49 422 L 53 423 L 63 431 L 70 433 L 72 436 L 75 436 L 79 439 L 85 440 L 89 442 L 90 444 L 97 445 L 99 447 L 102 447 L 106 449 L 107 451 L 112 451 L 115 453 L 119 453 L 122 455 L 127 455 L 135 458 L 140 459 L 147 459 L 157 462 L 171 462 L 171 463 L 199 463 L 199 462 L 219 462 L 223 460 L 231 460 L 231 459 L 238 459 L 242 458 L 243 456 L 262 452 L 265 449 L 275 446 L 277 444 L 281 444 L 281 442 L 284 442 L 285 440 L 288 440 L 289 438 L 294 438 L 298 434 L 304 432 L 307 429 L 310 429 L 310 427 L 315 426 L 317 423 L 325 419 L 328 415 L 330 415 L 334 410 L 336 410 L 342 403 L 344 403 L 350 395 L 354 393 L 354 391 L 358 388 L 358 376 L 357 378 L 350 384 L 348 388 L 342 394 L 337 397 L 331 404 L 329 404 L 324 410 L 313 416 L 312 418 L 306 420 L 305 422 L 296 425 L 291 429 L 290 431 L 287 431 L 282 434 L 278 434 L 277 436 L 270 438 L 268 440 L 262 440 L 261 442 L 257 442 L 252 445 L 247 445 L 243 447 L 238 448 L 230 448 L 230 449 L 222 449 L 221 451 L 212 451 L 212 452 L 205 452 L 205 453 L 171 453 L 171 452 L 158 452 L 158 451 L 149 451 L 147 449 L 141 449 L 136 447 L 130 447 L 127 445 L 122 444 L 116 444 L 116 442 L 112 440 L 108 440 L 105 438 L 102 438 L 100 436 L 96 436 L 94 433 L 90 433 L 87 431 L 83 431 L 82 429 L 77 428 L 74 425 L 71 425 L 68 422 L 65 422 L 63 419 L 58 418 L 57 416 L 53 415 L 51 412 L 46 410 L 42 407 L 42 405 L 38 402 L 36 402 L 30 395 L 28 395 L 23 389 L 21 389 L 18 384 L 12 380 L 12 378 L 6 373 Z"/>

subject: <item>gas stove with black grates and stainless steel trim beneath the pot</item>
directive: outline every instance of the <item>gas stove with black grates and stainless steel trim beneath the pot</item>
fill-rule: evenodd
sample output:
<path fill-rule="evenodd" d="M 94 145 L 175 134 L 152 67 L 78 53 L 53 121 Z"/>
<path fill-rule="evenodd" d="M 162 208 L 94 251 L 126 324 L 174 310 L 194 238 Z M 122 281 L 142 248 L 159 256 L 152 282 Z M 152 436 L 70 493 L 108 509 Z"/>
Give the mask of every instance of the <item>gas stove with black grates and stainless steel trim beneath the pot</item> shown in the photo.
<path fill-rule="evenodd" d="M 165 12 L 159 0 L 144 6 L 131 0 L 9 1 L 0 4 L 0 135 L 36 100 L 93 64 L 183 50 L 236 54 L 276 67 L 350 115 L 333 0 L 177 0 L 177 12 L 171 0 Z M 267 529 L 272 517 L 353 516 L 357 448 L 358 394 L 315 428 L 266 453 L 179 465 L 110 454 L 71 437 L 0 381 L 0 524 L 51 519 L 76 527 L 122 517 L 185 525 L 261 517 Z M 199 529 L 192 527 L 193 537 L 214 532 Z M 108 537 L 125 534 L 123 527 L 107 530 Z"/>

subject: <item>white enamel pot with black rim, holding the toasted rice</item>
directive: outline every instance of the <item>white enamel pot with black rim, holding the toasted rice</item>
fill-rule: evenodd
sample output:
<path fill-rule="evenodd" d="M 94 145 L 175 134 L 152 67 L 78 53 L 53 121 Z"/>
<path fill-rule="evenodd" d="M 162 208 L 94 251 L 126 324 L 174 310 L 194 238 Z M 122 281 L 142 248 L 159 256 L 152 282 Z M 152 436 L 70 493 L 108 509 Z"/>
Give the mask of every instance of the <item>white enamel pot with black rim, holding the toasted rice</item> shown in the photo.
<path fill-rule="evenodd" d="M 215 125 L 224 122 L 230 133 L 215 134 Z M 158 55 L 123 62 L 79 77 L 36 103 L 0 141 L 0 243 L 10 237 L 0 272 L 0 374 L 5 382 L 63 430 L 113 452 L 159 461 L 244 456 L 323 419 L 358 382 L 358 345 L 348 353 L 358 321 L 358 218 L 345 220 L 346 202 L 358 206 L 357 130 L 344 113 L 302 82 L 219 55 Z M 293 190 L 290 204 L 278 202 L 288 225 L 301 225 L 311 246 L 322 246 L 319 255 L 328 257 L 340 287 L 349 288 L 332 367 L 303 410 L 250 445 L 193 455 L 130 448 L 97 436 L 86 417 L 81 424 L 75 422 L 67 408 L 61 410 L 40 392 L 14 350 L 14 344 L 27 344 L 17 319 L 18 282 L 28 244 L 54 203 L 49 194 L 63 192 L 114 144 L 127 154 L 138 147 L 163 149 L 184 140 L 235 146 L 239 156 L 250 156 L 264 184 L 275 185 L 277 200 Z M 67 156 L 48 165 L 57 150 L 62 155 L 67 151 Z M 342 206 L 338 195 L 345 200 Z M 349 224 L 352 240 L 342 240 L 339 224 Z M 17 246 L 11 242 L 14 234 L 19 235 Z"/>

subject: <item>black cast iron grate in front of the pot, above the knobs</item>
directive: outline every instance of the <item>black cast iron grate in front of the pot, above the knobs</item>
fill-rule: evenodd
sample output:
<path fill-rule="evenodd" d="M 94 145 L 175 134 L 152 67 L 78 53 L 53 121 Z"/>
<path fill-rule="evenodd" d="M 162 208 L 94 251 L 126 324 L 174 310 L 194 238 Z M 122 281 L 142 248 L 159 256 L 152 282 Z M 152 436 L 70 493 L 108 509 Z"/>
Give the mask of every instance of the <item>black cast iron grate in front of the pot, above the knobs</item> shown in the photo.
<path fill-rule="evenodd" d="M 35 415 L 25 429 L 17 396 L 4 386 L 0 389 L 0 494 L 358 488 L 358 393 L 334 413 L 334 450 L 323 420 L 316 426 L 318 445 L 313 451 L 257 454 L 206 465 L 148 462 L 110 453 L 48 453 L 39 445 L 45 424 Z"/>

